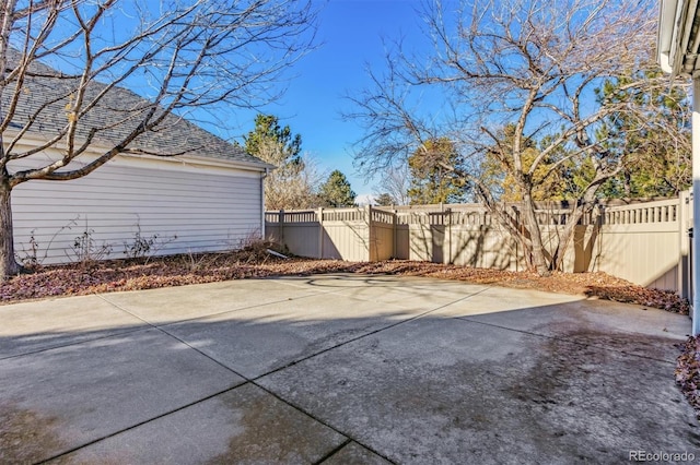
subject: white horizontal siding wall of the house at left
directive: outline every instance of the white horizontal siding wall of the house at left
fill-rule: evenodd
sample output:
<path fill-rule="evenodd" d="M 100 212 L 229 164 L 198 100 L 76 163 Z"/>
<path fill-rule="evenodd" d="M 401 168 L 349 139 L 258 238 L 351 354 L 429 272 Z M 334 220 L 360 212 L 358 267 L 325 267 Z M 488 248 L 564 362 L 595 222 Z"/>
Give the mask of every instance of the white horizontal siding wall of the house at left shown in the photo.
<path fill-rule="evenodd" d="M 259 171 L 223 163 L 142 157 L 71 181 L 25 182 L 12 192 L 15 250 L 22 259 L 33 235 L 45 264 L 73 261 L 75 237 L 88 230 L 95 246 L 112 246 L 109 258 L 122 258 L 139 227 L 144 239 L 158 235 L 159 254 L 237 248 L 262 233 L 260 182 Z"/>

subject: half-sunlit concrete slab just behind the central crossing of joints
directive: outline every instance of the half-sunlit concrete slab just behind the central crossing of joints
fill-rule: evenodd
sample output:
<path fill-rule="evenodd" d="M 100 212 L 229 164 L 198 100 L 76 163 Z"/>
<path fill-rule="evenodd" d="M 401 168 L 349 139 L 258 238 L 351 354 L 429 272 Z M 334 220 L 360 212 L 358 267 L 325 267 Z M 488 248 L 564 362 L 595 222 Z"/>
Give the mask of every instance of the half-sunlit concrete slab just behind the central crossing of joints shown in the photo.
<path fill-rule="evenodd" d="M 254 379 L 418 314 L 390 303 L 377 309 L 376 302 L 324 294 L 163 330 Z"/>

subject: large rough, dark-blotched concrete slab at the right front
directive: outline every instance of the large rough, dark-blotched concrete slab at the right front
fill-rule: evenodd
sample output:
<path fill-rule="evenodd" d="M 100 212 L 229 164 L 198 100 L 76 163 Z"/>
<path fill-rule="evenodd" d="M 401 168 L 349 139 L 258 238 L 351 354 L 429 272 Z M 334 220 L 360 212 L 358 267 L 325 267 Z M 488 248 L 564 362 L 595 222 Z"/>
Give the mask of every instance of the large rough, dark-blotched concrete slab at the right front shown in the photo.
<path fill-rule="evenodd" d="M 700 456 L 673 369 L 425 317 L 259 382 L 396 463 L 620 463 L 640 448 Z"/>

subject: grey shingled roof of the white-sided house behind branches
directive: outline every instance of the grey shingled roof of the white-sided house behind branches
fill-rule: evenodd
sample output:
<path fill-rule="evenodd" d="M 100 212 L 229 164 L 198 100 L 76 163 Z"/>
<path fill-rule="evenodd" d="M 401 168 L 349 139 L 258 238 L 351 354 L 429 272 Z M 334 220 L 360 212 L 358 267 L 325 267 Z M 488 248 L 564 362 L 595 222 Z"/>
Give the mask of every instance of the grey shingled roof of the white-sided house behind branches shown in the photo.
<path fill-rule="evenodd" d="M 9 62 L 12 58 L 9 53 Z M 59 133 L 68 123 L 67 106 L 78 87 L 78 79 L 66 78 L 48 65 L 34 62 L 30 68 L 31 75 L 25 78 L 21 97 L 14 117 L 10 124 L 13 129 L 21 129 L 31 117 L 35 121 L 28 131 L 50 139 Z M 105 92 L 106 84 L 91 82 L 86 90 L 86 102 Z M 3 100 L 10 96 L 2 95 Z M 3 102 L 3 106 L 7 102 Z M 153 104 L 136 93 L 124 88 L 113 87 L 80 119 L 78 138 L 88 136 L 92 128 L 98 131 L 94 135 L 95 145 L 106 147 L 119 143 L 131 130 L 140 123 L 145 111 Z M 5 106 L 7 108 L 7 106 Z M 164 111 L 159 107 L 161 114 Z M 248 165 L 259 165 L 260 168 L 270 166 L 259 158 L 247 154 L 243 147 L 234 145 L 212 134 L 184 117 L 168 114 L 154 131 L 140 134 L 128 145 L 152 155 L 197 155 L 222 160 L 240 162 Z"/>

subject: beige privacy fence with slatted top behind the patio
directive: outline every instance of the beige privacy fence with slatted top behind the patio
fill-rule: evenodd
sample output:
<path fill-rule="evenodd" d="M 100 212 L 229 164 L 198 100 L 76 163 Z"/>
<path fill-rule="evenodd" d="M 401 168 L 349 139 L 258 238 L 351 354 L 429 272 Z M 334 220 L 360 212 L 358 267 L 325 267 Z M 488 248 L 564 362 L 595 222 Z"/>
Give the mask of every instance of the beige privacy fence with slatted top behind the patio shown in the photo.
<path fill-rule="evenodd" d="M 672 200 L 597 206 L 575 227 L 564 271 L 603 271 L 688 296 L 690 204 L 690 194 L 684 193 Z M 551 250 L 570 211 L 542 208 L 537 215 Z M 522 246 L 477 204 L 267 212 L 266 234 L 300 257 L 525 269 Z"/>

